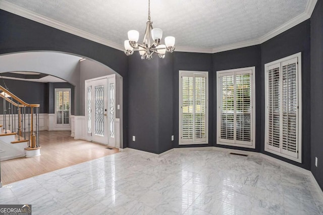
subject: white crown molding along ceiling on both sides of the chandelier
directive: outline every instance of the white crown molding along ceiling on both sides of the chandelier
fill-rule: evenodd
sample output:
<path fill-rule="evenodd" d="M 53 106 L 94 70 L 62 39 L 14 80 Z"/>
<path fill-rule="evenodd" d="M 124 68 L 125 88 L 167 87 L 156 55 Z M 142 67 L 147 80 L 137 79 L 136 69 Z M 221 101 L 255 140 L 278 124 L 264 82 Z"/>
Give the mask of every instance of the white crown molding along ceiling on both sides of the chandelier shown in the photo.
<path fill-rule="evenodd" d="M 283 33 L 284 31 L 309 19 L 313 13 L 316 2 L 317 2 L 317 0 L 308 0 L 308 3 L 306 5 L 306 9 L 303 13 L 301 13 L 297 17 L 293 18 L 292 20 L 288 21 L 287 23 L 279 26 L 278 28 L 266 33 L 265 35 L 261 36 L 260 38 L 249 40 L 249 41 L 238 42 L 238 43 L 234 43 L 234 44 L 230 44 L 230 45 L 214 47 L 214 48 L 194 48 L 194 47 L 177 46 L 175 51 L 198 52 L 198 53 L 217 53 L 217 52 L 221 52 L 221 51 L 227 51 L 227 50 L 247 47 L 247 46 L 251 46 L 251 45 L 261 44 L 261 43 L 267 41 L 268 39 L 271 39 L 271 38 L 279 35 L 280 33 Z M 89 39 L 94 42 L 98 42 L 100 44 L 110 46 L 112 48 L 115 48 L 115 49 L 118 49 L 121 51 L 124 50 L 124 47 L 122 44 L 118 44 L 118 43 L 112 42 L 110 40 L 98 37 L 98 36 L 93 35 L 91 33 L 85 32 L 85 31 L 80 30 L 78 28 L 74 28 L 72 26 L 58 22 L 58 21 L 50 19 L 48 17 L 39 15 L 37 13 L 34 13 L 34 12 L 29 11 L 27 9 L 21 8 L 17 5 L 14 5 L 14 4 L 6 2 L 6 1 L 0 1 L 0 9 L 8 11 L 13 14 L 16 14 L 18 16 L 39 22 L 41 24 L 44 24 L 44 25 L 47 25 L 47 26 L 50 26 L 53 28 L 57 28 L 59 30 L 83 37 L 85 39 Z"/>

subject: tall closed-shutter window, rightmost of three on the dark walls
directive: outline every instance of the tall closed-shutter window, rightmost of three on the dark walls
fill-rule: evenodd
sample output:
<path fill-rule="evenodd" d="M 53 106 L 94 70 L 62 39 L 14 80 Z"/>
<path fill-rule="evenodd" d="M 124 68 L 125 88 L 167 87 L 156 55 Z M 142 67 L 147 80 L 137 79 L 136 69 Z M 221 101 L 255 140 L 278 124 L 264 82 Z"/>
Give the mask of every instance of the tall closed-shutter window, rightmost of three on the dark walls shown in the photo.
<path fill-rule="evenodd" d="M 265 151 L 301 163 L 301 53 L 265 64 Z"/>

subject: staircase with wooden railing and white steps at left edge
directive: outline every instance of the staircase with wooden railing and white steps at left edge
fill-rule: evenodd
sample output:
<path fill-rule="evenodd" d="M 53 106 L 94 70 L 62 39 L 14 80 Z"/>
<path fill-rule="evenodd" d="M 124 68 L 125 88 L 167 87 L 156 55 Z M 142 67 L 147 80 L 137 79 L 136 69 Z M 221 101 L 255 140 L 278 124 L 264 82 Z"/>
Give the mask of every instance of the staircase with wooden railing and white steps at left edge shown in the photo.
<path fill-rule="evenodd" d="M 40 105 L 24 102 L 3 86 L 0 90 L 3 106 L 3 115 L 0 116 L 0 123 L 3 123 L 0 125 L 0 161 L 39 156 Z"/>

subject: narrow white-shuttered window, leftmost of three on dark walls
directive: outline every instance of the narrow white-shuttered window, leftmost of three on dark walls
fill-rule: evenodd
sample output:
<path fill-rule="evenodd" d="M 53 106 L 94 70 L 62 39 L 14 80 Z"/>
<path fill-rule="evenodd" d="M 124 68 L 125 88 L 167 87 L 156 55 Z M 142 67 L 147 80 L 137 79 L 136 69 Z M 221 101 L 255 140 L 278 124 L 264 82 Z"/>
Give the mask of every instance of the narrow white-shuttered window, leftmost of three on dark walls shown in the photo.
<path fill-rule="evenodd" d="M 208 73 L 179 71 L 179 144 L 208 143 Z"/>

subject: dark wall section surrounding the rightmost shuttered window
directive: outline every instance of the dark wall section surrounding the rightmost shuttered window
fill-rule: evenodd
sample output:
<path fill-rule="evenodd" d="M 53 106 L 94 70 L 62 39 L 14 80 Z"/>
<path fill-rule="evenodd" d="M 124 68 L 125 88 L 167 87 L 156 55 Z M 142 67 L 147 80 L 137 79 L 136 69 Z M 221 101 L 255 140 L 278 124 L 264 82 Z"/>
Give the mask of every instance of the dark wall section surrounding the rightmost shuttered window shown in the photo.
<path fill-rule="evenodd" d="M 264 113 L 264 64 L 302 52 L 302 163 L 264 151 L 264 114 L 261 114 L 261 153 L 310 170 L 310 20 L 261 44 L 261 111 Z"/>

